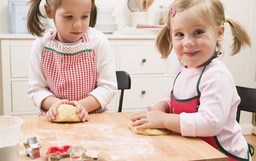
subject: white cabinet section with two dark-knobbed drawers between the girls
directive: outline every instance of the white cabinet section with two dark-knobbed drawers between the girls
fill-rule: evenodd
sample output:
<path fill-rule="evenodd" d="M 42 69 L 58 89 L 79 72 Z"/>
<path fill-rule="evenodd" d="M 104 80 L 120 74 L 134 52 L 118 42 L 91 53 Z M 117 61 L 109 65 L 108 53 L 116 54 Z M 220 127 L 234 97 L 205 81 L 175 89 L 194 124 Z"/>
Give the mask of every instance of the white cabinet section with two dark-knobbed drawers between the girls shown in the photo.
<path fill-rule="evenodd" d="M 173 72 L 168 72 L 168 60 L 161 58 L 155 49 L 155 36 L 109 36 L 111 46 L 117 48 L 116 70 L 124 70 L 131 76 L 131 89 L 125 90 L 122 111 L 140 111 L 153 106 L 168 94 L 173 83 Z M 179 61 L 171 57 L 175 68 Z M 119 98 L 120 92 L 117 93 Z M 119 99 L 117 99 L 117 105 Z M 117 108 L 109 109 L 117 111 Z"/>

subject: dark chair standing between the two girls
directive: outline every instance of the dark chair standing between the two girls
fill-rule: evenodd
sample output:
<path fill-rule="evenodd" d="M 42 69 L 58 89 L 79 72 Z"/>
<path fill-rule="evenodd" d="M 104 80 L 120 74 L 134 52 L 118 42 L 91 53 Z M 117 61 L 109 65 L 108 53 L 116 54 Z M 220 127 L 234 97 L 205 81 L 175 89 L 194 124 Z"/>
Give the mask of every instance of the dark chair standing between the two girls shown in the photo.
<path fill-rule="evenodd" d="M 121 90 L 118 112 L 122 112 L 124 90 L 131 89 L 131 78 L 126 71 L 116 71 L 117 89 Z"/>

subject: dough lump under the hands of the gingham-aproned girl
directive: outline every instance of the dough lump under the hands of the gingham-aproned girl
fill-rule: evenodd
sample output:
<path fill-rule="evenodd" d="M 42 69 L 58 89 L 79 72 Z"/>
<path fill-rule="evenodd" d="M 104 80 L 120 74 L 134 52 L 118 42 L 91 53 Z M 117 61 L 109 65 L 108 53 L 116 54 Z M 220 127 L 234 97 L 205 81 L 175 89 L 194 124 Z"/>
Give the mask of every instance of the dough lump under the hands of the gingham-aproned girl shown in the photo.
<path fill-rule="evenodd" d="M 57 108 L 57 115 L 54 122 L 80 122 L 81 118 L 76 113 L 76 107 L 62 104 Z"/>

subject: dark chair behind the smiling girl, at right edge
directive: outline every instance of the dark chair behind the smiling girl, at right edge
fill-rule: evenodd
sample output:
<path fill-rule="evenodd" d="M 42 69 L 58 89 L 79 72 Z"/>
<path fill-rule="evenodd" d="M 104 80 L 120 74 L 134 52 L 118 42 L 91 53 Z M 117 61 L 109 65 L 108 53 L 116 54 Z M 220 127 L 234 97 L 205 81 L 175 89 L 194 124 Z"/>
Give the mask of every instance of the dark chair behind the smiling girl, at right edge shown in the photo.
<path fill-rule="evenodd" d="M 236 87 L 238 95 L 241 98 L 241 102 L 237 109 L 237 122 L 239 123 L 241 111 L 256 113 L 256 89 L 240 86 Z"/>

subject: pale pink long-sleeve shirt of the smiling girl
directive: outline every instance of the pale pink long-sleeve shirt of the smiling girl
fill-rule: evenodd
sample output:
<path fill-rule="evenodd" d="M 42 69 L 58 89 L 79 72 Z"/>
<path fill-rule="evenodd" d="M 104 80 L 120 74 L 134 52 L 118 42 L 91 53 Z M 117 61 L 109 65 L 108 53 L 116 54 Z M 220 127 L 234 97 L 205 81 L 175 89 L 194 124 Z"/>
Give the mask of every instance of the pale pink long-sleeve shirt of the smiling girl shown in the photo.
<path fill-rule="evenodd" d="M 174 78 L 180 72 L 174 85 L 176 99 L 197 95 L 196 83 L 203 67 L 186 69 L 180 65 Z M 173 89 L 173 88 L 171 88 Z M 247 142 L 242 129 L 235 120 L 240 103 L 233 76 L 220 58 L 206 66 L 201 77 L 200 107 L 196 113 L 180 113 L 181 135 L 187 137 L 217 136 L 221 146 L 229 153 L 247 158 Z M 163 100 L 170 106 L 170 93 Z M 171 106 L 170 106 L 171 107 Z"/>

